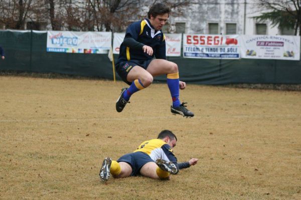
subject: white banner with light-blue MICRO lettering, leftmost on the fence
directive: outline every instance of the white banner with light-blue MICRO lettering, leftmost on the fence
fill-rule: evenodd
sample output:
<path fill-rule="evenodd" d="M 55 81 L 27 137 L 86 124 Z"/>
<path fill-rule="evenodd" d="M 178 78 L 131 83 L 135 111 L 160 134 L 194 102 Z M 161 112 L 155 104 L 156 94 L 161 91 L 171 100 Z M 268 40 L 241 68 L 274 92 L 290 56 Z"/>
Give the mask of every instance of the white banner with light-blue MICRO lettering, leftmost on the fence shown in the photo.
<path fill-rule="evenodd" d="M 112 32 L 47 31 L 47 51 L 107 53 Z"/>

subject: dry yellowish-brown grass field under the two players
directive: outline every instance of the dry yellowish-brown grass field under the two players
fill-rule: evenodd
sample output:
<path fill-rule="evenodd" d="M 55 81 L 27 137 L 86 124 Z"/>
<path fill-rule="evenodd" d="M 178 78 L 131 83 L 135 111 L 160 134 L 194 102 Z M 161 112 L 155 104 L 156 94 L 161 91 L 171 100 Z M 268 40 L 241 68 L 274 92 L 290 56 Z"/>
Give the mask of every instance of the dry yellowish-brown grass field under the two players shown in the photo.
<path fill-rule="evenodd" d="M 301 92 L 187 85 L 195 117 L 170 112 L 166 84 L 115 101 L 123 82 L 0 76 L 0 199 L 301 199 Z M 163 129 L 179 161 L 169 181 L 100 181 Z"/>

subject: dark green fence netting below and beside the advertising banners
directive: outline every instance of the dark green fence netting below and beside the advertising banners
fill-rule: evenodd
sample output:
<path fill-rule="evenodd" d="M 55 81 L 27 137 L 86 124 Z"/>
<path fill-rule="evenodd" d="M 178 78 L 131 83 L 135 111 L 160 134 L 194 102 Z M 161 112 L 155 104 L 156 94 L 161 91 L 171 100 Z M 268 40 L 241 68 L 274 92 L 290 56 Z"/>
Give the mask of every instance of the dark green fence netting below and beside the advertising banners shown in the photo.
<path fill-rule="evenodd" d="M 107 54 L 47 52 L 47 32 L 0 31 L 0 45 L 6 59 L 0 70 L 54 72 L 113 79 Z M 118 55 L 114 55 L 115 60 Z M 300 84 L 301 63 L 273 59 L 193 59 L 168 57 L 176 62 L 180 79 L 197 84 L 276 83 Z M 116 74 L 116 78 L 120 80 Z M 158 76 L 157 81 L 166 81 Z"/>

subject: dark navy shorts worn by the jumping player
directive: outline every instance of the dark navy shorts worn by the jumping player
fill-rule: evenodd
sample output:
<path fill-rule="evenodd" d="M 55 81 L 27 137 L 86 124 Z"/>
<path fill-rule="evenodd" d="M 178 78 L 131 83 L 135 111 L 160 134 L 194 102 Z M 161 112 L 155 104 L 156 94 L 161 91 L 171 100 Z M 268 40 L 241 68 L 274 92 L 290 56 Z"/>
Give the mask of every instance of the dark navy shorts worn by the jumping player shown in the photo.
<path fill-rule="evenodd" d="M 118 75 L 121 77 L 121 79 L 126 82 L 127 84 L 131 84 L 131 82 L 126 80 L 128 72 L 136 65 L 141 66 L 142 68 L 146 69 L 148 64 L 153 59 L 147 59 L 147 60 L 128 60 L 128 61 L 121 61 L 115 64 L 116 71 Z"/>

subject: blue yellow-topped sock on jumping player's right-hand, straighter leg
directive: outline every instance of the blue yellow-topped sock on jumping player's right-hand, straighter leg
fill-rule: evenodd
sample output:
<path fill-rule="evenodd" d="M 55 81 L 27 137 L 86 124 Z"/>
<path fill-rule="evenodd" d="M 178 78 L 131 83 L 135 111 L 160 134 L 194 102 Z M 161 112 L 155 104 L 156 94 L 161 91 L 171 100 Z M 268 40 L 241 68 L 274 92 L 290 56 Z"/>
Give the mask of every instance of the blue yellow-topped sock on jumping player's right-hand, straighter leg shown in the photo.
<path fill-rule="evenodd" d="M 171 91 L 173 99 L 173 107 L 179 107 L 181 102 L 179 99 L 180 87 L 179 87 L 179 72 L 167 74 L 167 85 Z"/>

